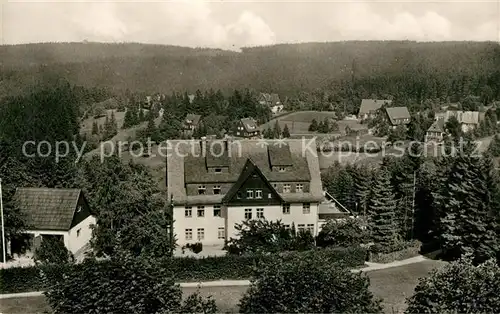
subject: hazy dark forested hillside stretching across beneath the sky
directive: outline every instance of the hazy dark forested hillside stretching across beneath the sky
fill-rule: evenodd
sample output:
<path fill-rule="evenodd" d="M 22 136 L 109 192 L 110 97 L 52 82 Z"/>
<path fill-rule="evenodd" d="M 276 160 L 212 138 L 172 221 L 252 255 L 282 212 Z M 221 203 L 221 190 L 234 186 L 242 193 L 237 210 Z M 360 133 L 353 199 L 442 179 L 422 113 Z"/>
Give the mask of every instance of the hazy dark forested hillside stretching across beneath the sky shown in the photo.
<path fill-rule="evenodd" d="M 464 95 L 500 98 L 493 42 L 336 42 L 242 52 L 142 44 L 0 46 L 0 95 L 63 77 L 111 91 L 250 88 L 286 96 L 326 91 L 341 99 L 392 95 L 412 102 Z"/>

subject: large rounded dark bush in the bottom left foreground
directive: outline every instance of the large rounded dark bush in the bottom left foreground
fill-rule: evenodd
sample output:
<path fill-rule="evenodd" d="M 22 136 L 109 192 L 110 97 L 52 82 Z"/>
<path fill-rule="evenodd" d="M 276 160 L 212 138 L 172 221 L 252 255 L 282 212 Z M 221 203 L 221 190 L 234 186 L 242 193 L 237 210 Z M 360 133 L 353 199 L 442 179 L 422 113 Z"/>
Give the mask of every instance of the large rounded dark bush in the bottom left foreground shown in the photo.
<path fill-rule="evenodd" d="M 48 283 L 45 296 L 54 313 L 166 313 L 183 308 L 216 312 L 213 301 L 199 295 L 182 304 L 182 291 L 167 271 L 128 256 L 86 260 Z"/>

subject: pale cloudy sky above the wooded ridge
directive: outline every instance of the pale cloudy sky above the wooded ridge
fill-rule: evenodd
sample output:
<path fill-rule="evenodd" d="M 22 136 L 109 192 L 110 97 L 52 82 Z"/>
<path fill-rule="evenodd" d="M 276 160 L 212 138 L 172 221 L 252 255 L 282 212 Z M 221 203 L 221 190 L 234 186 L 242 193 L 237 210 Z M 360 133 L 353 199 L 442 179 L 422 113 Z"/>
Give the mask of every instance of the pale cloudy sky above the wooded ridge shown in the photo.
<path fill-rule="evenodd" d="M 500 0 L 0 1 L 4 44 L 88 40 L 238 48 L 356 39 L 500 41 Z"/>

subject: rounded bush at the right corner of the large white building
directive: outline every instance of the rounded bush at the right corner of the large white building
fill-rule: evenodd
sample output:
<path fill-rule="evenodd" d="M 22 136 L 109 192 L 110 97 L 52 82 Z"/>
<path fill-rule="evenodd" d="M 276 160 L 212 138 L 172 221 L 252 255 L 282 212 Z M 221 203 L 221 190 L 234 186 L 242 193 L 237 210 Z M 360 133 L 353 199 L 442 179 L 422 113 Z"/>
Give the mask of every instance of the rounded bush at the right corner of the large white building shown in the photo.
<path fill-rule="evenodd" d="M 316 238 L 319 247 L 355 246 L 366 242 L 366 231 L 359 219 L 329 220 L 323 225 Z"/>

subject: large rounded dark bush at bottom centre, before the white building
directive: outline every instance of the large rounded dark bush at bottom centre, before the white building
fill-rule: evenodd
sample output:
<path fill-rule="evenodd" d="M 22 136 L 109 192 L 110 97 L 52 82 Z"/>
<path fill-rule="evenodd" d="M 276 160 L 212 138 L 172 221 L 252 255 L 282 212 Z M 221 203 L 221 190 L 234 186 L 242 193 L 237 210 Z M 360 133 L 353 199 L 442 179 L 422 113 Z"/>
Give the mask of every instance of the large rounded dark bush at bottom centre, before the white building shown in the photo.
<path fill-rule="evenodd" d="M 275 261 L 252 279 L 241 313 L 380 313 L 361 273 L 307 257 Z"/>

